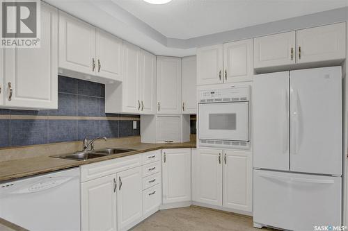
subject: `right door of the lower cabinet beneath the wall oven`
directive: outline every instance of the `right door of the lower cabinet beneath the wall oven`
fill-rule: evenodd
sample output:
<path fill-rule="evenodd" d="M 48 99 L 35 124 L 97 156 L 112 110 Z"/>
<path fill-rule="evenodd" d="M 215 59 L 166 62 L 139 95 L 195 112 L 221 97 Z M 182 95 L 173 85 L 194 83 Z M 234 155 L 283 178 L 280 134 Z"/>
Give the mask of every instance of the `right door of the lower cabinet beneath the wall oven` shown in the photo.
<path fill-rule="evenodd" d="M 223 151 L 223 207 L 253 211 L 251 152 Z"/>

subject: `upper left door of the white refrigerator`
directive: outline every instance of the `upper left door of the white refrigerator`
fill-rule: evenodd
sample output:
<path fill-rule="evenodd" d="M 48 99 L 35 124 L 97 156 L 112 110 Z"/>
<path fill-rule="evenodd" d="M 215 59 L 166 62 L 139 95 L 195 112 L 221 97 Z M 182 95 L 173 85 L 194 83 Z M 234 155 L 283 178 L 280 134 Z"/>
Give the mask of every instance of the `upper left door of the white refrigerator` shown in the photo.
<path fill-rule="evenodd" d="M 256 75 L 253 166 L 289 171 L 289 71 Z"/>

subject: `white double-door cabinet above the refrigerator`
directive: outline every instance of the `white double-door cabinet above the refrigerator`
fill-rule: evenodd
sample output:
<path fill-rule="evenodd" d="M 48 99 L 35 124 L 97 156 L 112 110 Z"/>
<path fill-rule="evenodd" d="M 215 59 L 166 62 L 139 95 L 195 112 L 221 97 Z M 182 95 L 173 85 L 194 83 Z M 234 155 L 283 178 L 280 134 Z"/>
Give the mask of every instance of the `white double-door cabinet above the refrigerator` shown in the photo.
<path fill-rule="evenodd" d="M 346 23 L 254 38 L 254 67 L 282 67 L 310 62 L 338 64 L 346 54 Z M 301 66 L 308 67 L 308 66 Z"/>

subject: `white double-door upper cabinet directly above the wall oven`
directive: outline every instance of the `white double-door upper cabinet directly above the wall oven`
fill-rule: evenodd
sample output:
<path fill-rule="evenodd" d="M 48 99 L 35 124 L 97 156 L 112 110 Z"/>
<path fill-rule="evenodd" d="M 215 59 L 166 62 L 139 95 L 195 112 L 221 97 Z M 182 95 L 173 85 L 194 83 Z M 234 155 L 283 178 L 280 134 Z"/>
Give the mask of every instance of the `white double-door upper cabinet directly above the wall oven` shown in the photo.
<path fill-rule="evenodd" d="M 197 50 L 197 85 L 253 79 L 253 40 L 240 40 Z"/>

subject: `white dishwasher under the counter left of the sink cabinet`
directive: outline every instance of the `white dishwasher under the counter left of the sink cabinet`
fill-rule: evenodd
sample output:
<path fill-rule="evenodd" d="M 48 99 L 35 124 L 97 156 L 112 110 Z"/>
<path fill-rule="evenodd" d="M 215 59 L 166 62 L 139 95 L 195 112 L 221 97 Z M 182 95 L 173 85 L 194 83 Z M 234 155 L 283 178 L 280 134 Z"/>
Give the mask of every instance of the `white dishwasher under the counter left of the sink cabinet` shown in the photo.
<path fill-rule="evenodd" d="M 79 231 L 79 168 L 2 183 L 0 217 L 30 231 Z"/>

